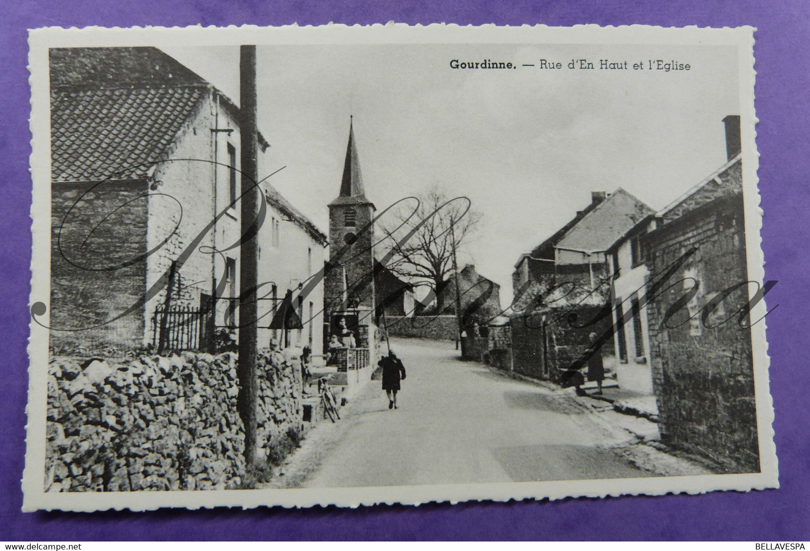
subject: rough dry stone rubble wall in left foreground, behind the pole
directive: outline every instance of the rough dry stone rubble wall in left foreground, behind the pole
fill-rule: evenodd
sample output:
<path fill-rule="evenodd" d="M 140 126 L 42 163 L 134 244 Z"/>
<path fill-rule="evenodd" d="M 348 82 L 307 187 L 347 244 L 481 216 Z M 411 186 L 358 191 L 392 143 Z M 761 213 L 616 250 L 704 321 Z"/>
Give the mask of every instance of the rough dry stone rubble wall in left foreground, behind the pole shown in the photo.
<path fill-rule="evenodd" d="M 258 447 L 301 429 L 300 367 L 258 365 Z M 244 481 L 237 356 L 181 352 L 49 365 L 46 491 L 233 489 Z"/>

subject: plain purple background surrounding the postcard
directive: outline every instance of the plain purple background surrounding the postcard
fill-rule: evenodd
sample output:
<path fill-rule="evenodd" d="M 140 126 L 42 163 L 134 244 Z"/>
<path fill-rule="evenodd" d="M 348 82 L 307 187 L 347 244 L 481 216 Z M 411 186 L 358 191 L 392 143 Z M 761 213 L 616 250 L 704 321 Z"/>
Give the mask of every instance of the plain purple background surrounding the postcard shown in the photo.
<path fill-rule="evenodd" d="M 0 340 L 5 376 L 0 408 L 0 540 L 241 539 L 534 539 L 534 540 L 810 540 L 808 437 L 808 242 L 806 175 L 810 173 L 810 4 L 804 0 L 731 2 L 223 2 L 223 0 L 61 0 L 4 2 L 0 22 L 3 109 L 0 164 L 4 293 Z M 44 26 L 280 25 L 450 22 L 519 25 L 646 23 L 710 27 L 753 25 L 757 44 L 757 147 L 766 280 L 778 309 L 768 317 L 771 392 L 782 488 L 700 496 L 567 499 L 561 502 L 471 503 L 360 510 L 160 510 L 93 514 L 20 512 L 28 389 L 31 182 L 27 28 Z"/>

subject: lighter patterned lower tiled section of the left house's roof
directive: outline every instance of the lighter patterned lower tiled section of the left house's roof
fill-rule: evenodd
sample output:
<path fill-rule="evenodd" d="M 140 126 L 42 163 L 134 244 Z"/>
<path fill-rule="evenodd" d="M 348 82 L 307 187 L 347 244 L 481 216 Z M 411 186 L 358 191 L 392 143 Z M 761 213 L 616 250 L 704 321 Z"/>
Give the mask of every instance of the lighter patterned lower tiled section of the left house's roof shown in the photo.
<path fill-rule="evenodd" d="M 146 176 L 207 93 L 202 86 L 54 90 L 52 181 Z"/>

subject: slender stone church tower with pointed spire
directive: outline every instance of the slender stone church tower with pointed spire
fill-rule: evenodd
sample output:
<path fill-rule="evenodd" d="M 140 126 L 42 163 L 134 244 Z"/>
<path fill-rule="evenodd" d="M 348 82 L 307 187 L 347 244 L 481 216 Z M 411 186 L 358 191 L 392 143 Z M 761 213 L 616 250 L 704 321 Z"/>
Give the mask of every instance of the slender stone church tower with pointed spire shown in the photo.
<path fill-rule="evenodd" d="M 329 203 L 330 259 L 324 280 L 324 320 L 330 327 L 324 334 L 326 340 L 335 333 L 340 317 L 346 317 L 350 324 L 360 324 L 355 331 L 359 333 L 356 335 L 358 346 L 363 345 L 368 328 L 373 327 L 374 243 L 377 239 L 372 220 L 376 210 L 365 195 L 354 125 L 350 122 L 340 193 Z"/>

